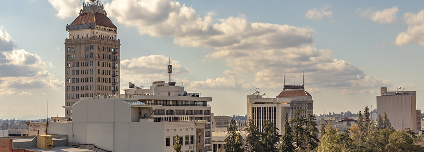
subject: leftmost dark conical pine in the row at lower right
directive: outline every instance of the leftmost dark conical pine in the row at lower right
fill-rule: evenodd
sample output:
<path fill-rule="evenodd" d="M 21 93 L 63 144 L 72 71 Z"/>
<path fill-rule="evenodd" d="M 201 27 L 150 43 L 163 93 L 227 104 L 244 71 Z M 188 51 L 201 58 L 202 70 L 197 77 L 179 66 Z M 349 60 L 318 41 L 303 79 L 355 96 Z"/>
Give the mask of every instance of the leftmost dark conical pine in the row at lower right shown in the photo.
<path fill-rule="evenodd" d="M 223 145 L 225 152 L 243 152 L 243 138 L 240 139 L 240 133 L 237 133 L 237 131 L 237 124 L 234 121 L 234 118 L 232 118 L 228 128 L 227 137 L 224 139 L 224 142 L 226 143 Z"/>

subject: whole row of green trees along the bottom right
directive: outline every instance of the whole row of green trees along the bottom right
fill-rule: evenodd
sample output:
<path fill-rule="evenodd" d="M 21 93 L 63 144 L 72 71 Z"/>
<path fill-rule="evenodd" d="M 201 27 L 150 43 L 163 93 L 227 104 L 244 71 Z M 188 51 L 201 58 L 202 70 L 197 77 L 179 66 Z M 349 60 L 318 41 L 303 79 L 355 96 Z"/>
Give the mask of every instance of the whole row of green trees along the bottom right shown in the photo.
<path fill-rule="evenodd" d="M 285 114 L 283 135 L 270 120 L 263 123 L 263 131 L 259 132 L 249 118 L 243 139 L 231 119 L 226 144 L 218 152 L 424 152 L 424 135 L 416 136 L 410 128 L 394 130 L 386 114 L 379 115 L 374 123 L 368 107 L 357 113 L 358 123 L 347 130 L 339 130 L 331 121 L 318 129 L 315 116 L 302 117 L 302 111 L 296 110 L 291 120 Z"/>

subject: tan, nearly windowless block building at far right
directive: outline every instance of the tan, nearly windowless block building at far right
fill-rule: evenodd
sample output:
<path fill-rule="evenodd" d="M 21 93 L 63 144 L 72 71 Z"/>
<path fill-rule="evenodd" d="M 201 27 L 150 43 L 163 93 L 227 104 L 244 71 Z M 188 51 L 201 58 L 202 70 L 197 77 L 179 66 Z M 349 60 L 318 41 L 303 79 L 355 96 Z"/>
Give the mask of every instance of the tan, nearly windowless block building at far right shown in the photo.
<path fill-rule="evenodd" d="M 386 112 L 394 129 L 410 128 L 418 133 L 421 129 L 418 112 L 421 110 L 416 109 L 416 91 L 387 91 L 386 87 L 381 87 L 380 91 L 380 96 L 377 96 L 377 116 L 384 116 Z"/>

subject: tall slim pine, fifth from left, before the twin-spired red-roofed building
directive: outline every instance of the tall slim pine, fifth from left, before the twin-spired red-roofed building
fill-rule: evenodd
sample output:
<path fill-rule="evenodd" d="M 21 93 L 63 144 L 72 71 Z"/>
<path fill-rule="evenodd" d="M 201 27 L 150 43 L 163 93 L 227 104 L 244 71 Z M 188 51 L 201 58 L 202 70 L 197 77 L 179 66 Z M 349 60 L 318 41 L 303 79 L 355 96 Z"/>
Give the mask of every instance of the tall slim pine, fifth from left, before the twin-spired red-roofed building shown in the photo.
<path fill-rule="evenodd" d="M 305 149 L 306 148 L 306 130 L 303 128 L 305 119 L 301 116 L 301 112 L 305 111 L 303 109 L 298 109 L 295 111 L 295 117 L 290 120 L 290 124 L 293 124 L 293 139 L 296 149 Z"/>

